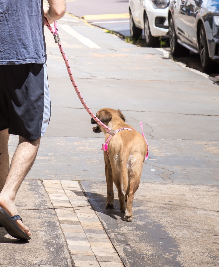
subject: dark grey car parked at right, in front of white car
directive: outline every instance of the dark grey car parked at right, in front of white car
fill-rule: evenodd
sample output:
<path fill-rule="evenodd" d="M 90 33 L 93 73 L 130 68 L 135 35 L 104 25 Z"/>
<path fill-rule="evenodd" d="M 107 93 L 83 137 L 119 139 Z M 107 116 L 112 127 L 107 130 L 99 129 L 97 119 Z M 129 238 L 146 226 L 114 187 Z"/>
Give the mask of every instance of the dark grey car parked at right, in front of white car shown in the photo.
<path fill-rule="evenodd" d="M 168 20 L 172 55 L 199 53 L 203 70 L 212 71 L 219 61 L 219 0 L 172 0 Z"/>

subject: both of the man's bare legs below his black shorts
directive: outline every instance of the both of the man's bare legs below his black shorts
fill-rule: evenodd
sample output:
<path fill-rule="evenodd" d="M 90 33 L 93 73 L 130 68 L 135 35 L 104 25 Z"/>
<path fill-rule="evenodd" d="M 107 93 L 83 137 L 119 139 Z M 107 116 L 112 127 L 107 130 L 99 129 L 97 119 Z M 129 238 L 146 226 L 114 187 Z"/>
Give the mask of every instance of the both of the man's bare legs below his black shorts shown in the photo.
<path fill-rule="evenodd" d="M 8 129 L 0 131 L 0 207 L 13 216 L 18 214 L 15 206 L 17 190 L 34 163 L 40 138 L 28 140 L 19 136 L 19 144 L 12 158 L 10 169 L 8 139 Z M 17 220 L 16 223 L 28 236 L 31 235 L 29 228 L 21 220 Z"/>

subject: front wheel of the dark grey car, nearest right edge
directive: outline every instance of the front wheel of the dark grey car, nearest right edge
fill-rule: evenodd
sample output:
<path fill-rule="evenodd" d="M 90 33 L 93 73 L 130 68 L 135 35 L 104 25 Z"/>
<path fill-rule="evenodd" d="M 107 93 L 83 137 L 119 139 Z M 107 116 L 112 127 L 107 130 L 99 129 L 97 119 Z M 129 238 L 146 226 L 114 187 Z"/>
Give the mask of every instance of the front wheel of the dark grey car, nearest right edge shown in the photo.
<path fill-rule="evenodd" d="M 212 70 L 212 60 L 209 57 L 207 39 L 204 30 L 204 25 L 202 24 L 199 31 L 199 51 L 200 59 L 202 63 L 203 71 L 210 72 Z"/>

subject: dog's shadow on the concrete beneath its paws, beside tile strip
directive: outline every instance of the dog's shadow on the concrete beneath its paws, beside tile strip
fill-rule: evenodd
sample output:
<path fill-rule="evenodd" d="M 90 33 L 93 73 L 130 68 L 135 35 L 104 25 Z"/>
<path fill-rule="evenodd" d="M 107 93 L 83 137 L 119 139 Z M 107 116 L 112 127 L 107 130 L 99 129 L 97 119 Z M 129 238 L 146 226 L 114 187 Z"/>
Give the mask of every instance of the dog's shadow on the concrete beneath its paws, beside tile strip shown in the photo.
<path fill-rule="evenodd" d="M 114 209 L 108 209 L 105 207 L 107 198 L 104 195 L 87 191 L 84 191 L 84 193 L 88 197 L 88 200 L 95 212 L 101 212 L 114 220 L 118 220 L 118 217 L 120 217 L 120 219 L 124 221 L 124 212 L 121 212 L 119 209 L 118 199 L 115 199 L 114 201 Z"/>

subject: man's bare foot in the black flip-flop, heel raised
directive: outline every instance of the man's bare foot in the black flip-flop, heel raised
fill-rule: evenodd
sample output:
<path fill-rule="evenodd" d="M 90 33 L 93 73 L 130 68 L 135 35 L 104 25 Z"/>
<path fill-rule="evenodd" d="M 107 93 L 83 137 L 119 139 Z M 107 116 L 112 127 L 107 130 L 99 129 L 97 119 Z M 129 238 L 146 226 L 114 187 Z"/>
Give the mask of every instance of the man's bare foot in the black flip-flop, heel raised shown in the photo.
<path fill-rule="evenodd" d="M 18 214 L 15 202 L 9 199 L 6 200 L 2 196 L 0 196 L 0 207 L 4 209 L 4 211 L 7 212 L 10 217 Z M 16 220 L 15 222 L 24 233 L 26 233 L 28 236 L 31 235 L 29 228 L 25 226 L 21 220 Z"/>

